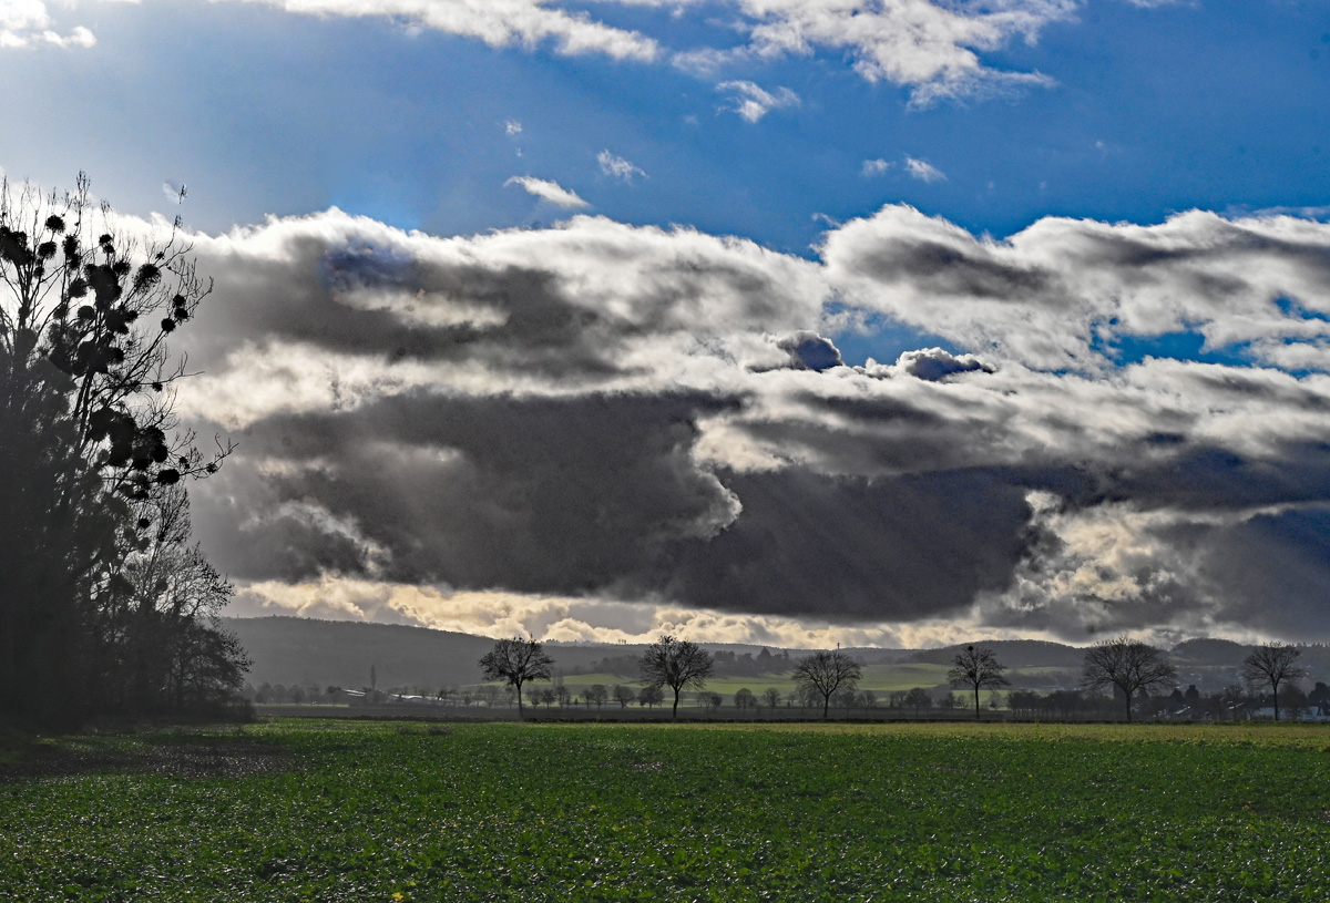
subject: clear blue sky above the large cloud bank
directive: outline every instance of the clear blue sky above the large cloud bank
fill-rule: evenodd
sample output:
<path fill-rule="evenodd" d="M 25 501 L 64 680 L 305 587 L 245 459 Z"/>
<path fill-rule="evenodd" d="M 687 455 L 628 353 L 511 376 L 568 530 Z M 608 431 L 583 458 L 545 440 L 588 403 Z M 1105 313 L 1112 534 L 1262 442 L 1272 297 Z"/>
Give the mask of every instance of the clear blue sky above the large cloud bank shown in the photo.
<path fill-rule="evenodd" d="M 734 44 L 725 4 L 585 8 L 662 45 Z M 1317 207 L 1330 195 L 1330 11 L 1318 3 L 1076 5 L 1037 43 L 982 53 L 1047 86 L 910 106 L 847 55 L 741 60 L 694 74 L 665 63 L 489 48 L 402 17 L 309 17 L 230 3 L 85 3 L 92 48 L 0 59 L 7 172 L 44 184 L 85 169 L 122 209 L 192 186 L 203 229 L 340 206 L 436 234 L 549 222 L 511 176 L 577 192 L 596 213 L 686 223 L 807 253 L 825 223 L 906 202 L 1008 235 L 1043 215 L 1138 223 L 1201 207 Z M 725 81 L 785 86 L 798 106 L 758 122 L 721 112 Z M 59 113 L 55 110 L 59 109 Z M 52 118 L 68 122 L 52 128 Z M 507 122 L 521 133 L 505 133 Z M 77 136 L 77 137 L 76 137 Z M 597 154 L 638 166 L 606 177 Z M 520 156 L 519 156 L 520 154 Z M 944 180 L 911 177 L 906 160 Z M 890 168 L 864 176 L 863 164 Z"/>

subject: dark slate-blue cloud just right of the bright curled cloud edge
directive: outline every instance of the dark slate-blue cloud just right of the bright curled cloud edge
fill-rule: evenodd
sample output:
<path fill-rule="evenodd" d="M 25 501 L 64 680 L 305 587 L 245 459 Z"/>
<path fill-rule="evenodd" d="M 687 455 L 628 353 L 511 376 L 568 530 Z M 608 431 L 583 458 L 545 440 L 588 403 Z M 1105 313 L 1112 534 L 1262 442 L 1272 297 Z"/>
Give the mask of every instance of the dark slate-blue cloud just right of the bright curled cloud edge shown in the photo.
<path fill-rule="evenodd" d="M 1005 588 L 1025 548 L 1024 492 L 983 472 L 724 479 L 743 513 L 709 543 L 680 544 L 666 576 L 670 594 L 694 605 L 850 621 L 936 617 Z"/>

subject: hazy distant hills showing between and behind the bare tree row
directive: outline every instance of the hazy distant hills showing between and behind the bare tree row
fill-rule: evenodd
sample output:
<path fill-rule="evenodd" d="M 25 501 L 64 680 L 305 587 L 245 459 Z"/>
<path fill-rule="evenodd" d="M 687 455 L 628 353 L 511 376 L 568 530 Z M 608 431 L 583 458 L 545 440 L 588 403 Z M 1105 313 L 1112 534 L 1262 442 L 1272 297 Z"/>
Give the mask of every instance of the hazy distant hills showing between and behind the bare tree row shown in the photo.
<path fill-rule="evenodd" d="M 249 681 L 254 686 L 267 684 L 299 686 L 370 686 L 371 668 L 375 686 L 390 689 L 464 686 L 480 680 L 479 660 L 492 646 L 493 640 L 468 633 L 452 633 L 430 628 L 364 621 L 321 621 L 314 618 L 275 616 L 257 618 L 223 618 L 226 629 L 235 633 L 254 660 Z M 720 653 L 722 661 L 718 676 L 728 670 L 753 670 L 763 646 L 735 644 L 702 644 Z M 1029 674 L 1043 672 L 1047 680 L 1036 682 L 1075 684 L 1083 648 L 1041 640 L 984 641 L 999 661 L 1011 670 L 1029 669 Z M 868 668 L 891 664 L 950 665 L 964 644 L 938 649 L 846 649 Z M 555 658 L 556 674 L 573 678 L 593 672 L 618 674 L 625 681 L 636 678 L 634 661 L 644 646 L 632 644 L 547 644 L 545 650 Z M 770 656 L 797 658 L 810 649 L 765 648 Z M 1198 684 L 1218 689 L 1236 682 L 1238 665 L 1246 646 L 1228 640 L 1188 640 L 1170 652 L 1181 685 Z M 730 661 L 733 657 L 733 661 Z M 751 658 L 753 661 L 747 661 Z M 746 665 L 745 665 L 746 662 Z M 1313 680 L 1330 674 L 1330 649 L 1305 646 L 1302 664 Z M 771 662 L 771 673 L 783 670 L 781 662 Z M 940 680 L 940 674 L 936 680 Z M 573 682 L 573 681 L 571 681 Z"/>

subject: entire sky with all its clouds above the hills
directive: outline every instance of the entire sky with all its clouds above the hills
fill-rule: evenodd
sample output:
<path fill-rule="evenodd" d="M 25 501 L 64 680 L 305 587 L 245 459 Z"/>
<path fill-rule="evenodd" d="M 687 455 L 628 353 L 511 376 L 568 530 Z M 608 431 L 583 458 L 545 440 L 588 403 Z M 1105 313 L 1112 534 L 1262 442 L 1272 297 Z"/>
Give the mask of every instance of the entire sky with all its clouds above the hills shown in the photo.
<path fill-rule="evenodd" d="M 0 0 L 0 84 L 214 279 L 229 613 L 1330 640 L 1326 0 Z"/>

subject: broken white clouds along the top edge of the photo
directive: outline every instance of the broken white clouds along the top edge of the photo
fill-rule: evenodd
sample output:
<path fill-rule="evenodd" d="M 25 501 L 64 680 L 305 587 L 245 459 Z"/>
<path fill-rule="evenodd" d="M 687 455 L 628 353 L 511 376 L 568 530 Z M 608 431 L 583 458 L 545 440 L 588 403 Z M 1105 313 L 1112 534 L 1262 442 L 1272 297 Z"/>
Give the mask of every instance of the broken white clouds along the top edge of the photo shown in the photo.
<path fill-rule="evenodd" d="M 713 44 L 668 47 L 662 35 L 620 28 L 581 5 L 561 0 L 243 0 L 305 16 L 379 17 L 483 41 L 493 48 L 548 47 L 564 56 L 602 56 L 617 61 L 672 60 L 682 69 L 714 73 L 725 68 L 791 56 L 827 53 L 847 57 L 867 81 L 911 89 L 911 104 L 984 97 L 1049 85 L 1040 73 L 986 65 L 980 53 L 1013 40 L 1033 43 L 1049 23 L 1068 20 L 1079 0 L 1004 0 L 974 5 L 944 0 L 721 0 L 726 27 L 717 28 L 716 5 L 701 0 L 605 0 L 606 7 L 653 7 L 676 19 L 693 19 L 693 35 L 716 33 Z M 89 0 L 84 0 L 88 5 Z M 66 5 L 74 5 L 73 3 Z M 1137 5 L 1157 5 L 1138 0 Z M 733 31 L 742 43 L 733 44 Z M 693 37 L 690 40 L 698 40 Z M 51 27 L 41 0 L 5 0 L 0 7 L 0 47 L 31 44 L 90 47 L 96 37 L 78 25 L 68 33 Z M 751 82 L 733 82 L 751 84 Z M 775 105 L 789 102 L 771 94 Z M 755 121 L 773 109 L 742 98 L 739 112 Z M 761 110 L 761 112 L 758 112 Z"/>

